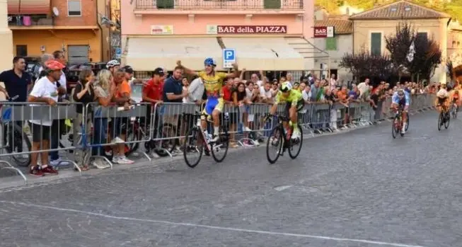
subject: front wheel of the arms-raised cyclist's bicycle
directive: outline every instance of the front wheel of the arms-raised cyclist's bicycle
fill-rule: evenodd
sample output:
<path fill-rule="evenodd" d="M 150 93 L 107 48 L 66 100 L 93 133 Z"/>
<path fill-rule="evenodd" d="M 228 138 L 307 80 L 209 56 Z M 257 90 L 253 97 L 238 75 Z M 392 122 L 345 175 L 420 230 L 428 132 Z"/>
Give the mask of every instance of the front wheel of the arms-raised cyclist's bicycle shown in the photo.
<path fill-rule="evenodd" d="M 185 138 L 185 144 L 183 149 L 183 156 L 185 158 L 186 165 L 190 168 L 195 168 L 202 158 L 202 151 L 204 150 L 204 141 L 202 140 L 202 133 L 200 128 L 192 127 Z M 189 154 L 197 154 L 197 160 L 188 158 Z"/>

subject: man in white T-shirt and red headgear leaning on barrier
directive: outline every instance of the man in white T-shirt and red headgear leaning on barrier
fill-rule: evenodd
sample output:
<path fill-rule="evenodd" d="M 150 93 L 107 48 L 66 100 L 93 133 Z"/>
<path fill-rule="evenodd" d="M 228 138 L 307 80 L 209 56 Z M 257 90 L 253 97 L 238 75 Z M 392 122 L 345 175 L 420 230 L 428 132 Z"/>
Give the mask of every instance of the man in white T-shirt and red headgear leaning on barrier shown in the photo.
<path fill-rule="evenodd" d="M 30 92 L 28 101 L 31 103 L 47 103 L 56 105 L 59 93 L 63 93 L 64 88 L 57 86 L 57 81 L 62 75 L 64 65 L 58 61 L 50 60 L 45 62 L 47 76 L 42 77 L 35 83 Z M 50 149 L 50 135 L 52 122 L 50 120 L 30 120 L 32 125 L 32 151 Z M 37 152 L 31 154 L 29 173 L 35 176 L 44 176 L 45 173 L 57 174 L 52 166 L 48 164 L 48 151 L 40 153 L 42 166 L 37 166 Z"/>

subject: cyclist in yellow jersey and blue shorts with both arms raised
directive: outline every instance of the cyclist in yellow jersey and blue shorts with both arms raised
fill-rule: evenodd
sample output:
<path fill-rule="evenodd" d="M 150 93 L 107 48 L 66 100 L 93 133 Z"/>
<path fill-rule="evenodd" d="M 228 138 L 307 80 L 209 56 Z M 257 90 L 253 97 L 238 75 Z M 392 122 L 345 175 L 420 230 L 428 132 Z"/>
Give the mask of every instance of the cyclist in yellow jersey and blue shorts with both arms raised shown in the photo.
<path fill-rule="evenodd" d="M 233 64 L 234 71 L 232 73 L 224 73 L 215 71 L 216 62 L 212 57 L 207 57 L 204 60 L 204 70 L 196 72 L 191 69 L 185 68 L 181 65 L 181 61 L 176 62 L 178 67 L 181 67 L 185 74 L 190 74 L 194 76 L 199 76 L 202 79 L 204 84 L 205 92 L 207 93 L 207 103 L 205 103 L 204 111 L 202 112 L 201 124 L 204 130 L 207 129 L 207 119 L 214 121 L 214 135 L 211 142 L 217 142 L 219 140 L 219 126 L 220 126 L 220 113 L 223 110 L 224 100 L 221 87 L 223 86 L 223 81 L 226 78 L 236 78 L 239 76 L 238 64 Z"/>

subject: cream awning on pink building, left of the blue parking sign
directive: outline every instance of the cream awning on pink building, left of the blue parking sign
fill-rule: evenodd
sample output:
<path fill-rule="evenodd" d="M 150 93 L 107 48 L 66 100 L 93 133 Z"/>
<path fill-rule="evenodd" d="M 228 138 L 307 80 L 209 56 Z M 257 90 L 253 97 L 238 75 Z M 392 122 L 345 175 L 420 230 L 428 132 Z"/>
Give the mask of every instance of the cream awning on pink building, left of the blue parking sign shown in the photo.
<path fill-rule="evenodd" d="M 124 64 L 136 71 L 153 71 L 156 67 L 172 70 L 176 61 L 192 70 L 204 69 L 204 59 L 213 57 L 223 67 L 221 47 L 216 38 L 129 38 Z"/>

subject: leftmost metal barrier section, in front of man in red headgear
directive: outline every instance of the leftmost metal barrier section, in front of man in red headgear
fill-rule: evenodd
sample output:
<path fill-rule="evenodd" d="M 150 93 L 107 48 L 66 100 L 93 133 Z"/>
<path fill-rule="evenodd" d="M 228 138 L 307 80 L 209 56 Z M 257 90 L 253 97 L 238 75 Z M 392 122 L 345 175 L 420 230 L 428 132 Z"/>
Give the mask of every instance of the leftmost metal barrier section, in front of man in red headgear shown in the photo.
<path fill-rule="evenodd" d="M 16 159 L 16 162 L 21 163 L 22 166 L 29 166 L 32 156 L 35 155 L 37 155 L 35 165 L 38 165 L 41 160 L 39 158 L 42 158 L 42 155 L 48 156 L 52 151 L 81 149 L 80 146 L 73 144 L 69 147 L 59 147 L 61 122 L 76 118 L 76 105 L 79 103 L 57 103 L 54 106 L 45 103 L 1 103 L 0 158 L 10 157 Z M 34 136 L 40 139 L 40 142 L 33 142 Z M 48 140 L 46 147 L 42 142 L 43 139 Z M 49 157 L 46 160 L 50 162 Z M 24 174 L 10 162 L 0 161 L 0 163 L 6 164 L 7 169 L 15 170 L 27 183 Z M 79 166 L 71 160 L 59 161 L 57 167 L 64 163 L 73 165 L 81 172 Z"/>

